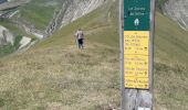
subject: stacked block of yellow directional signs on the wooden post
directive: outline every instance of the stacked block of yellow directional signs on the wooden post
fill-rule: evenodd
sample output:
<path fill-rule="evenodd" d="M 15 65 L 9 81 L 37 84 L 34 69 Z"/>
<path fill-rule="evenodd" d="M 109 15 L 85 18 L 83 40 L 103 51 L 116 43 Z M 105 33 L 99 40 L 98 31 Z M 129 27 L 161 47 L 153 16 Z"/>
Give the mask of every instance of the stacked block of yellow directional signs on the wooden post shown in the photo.
<path fill-rule="evenodd" d="M 149 31 L 124 31 L 126 88 L 149 88 Z"/>

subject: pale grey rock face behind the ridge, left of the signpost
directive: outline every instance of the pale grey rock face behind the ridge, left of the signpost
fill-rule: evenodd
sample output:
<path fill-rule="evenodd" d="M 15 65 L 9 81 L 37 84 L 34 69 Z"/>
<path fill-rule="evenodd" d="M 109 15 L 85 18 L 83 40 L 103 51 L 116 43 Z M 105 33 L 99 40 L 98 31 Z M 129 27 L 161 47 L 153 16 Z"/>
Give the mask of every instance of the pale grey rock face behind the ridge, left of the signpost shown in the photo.
<path fill-rule="evenodd" d="M 105 0 L 65 0 L 60 11 L 55 11 L 46 33 L 49 35 L 70 22 L 98 8 Z"/>

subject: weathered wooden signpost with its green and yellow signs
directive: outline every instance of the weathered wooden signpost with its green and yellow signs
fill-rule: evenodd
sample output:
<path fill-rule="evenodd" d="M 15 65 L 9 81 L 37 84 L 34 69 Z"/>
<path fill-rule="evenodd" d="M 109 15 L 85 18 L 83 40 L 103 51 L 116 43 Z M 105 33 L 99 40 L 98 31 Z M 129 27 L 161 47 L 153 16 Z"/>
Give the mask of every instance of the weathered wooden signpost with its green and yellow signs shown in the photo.
<path fill-rule="evenodd" d="M 122 110 L 153 110 L 155 0 L 119 0 Z"/>

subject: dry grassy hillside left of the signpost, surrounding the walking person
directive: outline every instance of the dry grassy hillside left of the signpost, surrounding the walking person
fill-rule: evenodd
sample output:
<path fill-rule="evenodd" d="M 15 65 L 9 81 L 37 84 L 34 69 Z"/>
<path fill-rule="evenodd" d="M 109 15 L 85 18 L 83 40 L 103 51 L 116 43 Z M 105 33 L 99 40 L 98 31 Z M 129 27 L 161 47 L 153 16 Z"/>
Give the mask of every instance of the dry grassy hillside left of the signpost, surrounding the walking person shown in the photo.
<path fill-rule="evenodd" d="M 117 25 L 111 23 L 111 4 L 63 28 L 29 52 L 2 58 L 1 109 L 103 110 L 109 103 L 119 107 L 118 34 Z M 83 51 L 74 43 L 73 33 L 79 26 L 86 32 Z"/>

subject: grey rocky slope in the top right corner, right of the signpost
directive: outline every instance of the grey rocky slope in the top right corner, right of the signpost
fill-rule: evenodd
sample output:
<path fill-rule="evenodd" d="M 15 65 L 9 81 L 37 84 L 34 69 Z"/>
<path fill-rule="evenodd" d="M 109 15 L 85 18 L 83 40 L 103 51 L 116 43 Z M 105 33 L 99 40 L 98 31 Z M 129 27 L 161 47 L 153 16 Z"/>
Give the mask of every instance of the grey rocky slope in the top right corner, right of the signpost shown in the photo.
<path fill-rule="evenodd" d="M 164 6 L 164 14 L 188 31 L 188 0 L 168 0 Z"/>

